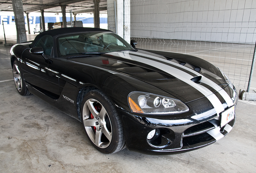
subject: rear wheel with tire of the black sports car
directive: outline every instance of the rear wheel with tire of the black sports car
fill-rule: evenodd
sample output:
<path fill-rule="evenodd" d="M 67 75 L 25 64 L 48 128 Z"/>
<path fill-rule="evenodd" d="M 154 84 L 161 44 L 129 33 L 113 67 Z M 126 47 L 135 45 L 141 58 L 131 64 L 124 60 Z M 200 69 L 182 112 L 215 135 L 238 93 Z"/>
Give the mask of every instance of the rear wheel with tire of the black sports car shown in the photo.
<path fill-rule="evenodd" d="M 12 74 L 14 79 L 14 84 L 20 95 L 26 96 L 30 95 L 29 90 L 25 86 L 25 80 L 23 79 L 23 74 L 20 70 L 17 60 L 14 61 L 12 65 Z"/>

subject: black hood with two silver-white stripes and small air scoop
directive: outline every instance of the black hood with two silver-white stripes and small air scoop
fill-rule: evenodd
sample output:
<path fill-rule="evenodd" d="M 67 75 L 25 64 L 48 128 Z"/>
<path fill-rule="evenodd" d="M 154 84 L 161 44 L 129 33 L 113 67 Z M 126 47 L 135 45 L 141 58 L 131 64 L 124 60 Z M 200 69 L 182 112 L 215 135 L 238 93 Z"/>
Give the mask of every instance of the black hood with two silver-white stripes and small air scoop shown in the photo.
<path fill-rule="evenodd" d="M 74 56 L 68 59 L 126 74 L 151 84 L 184 103 L 207 97 L 227 86 L 227 82 L 218 76 L 219 70 L 206 61 L 203 63 L 204 60 L 200 58 L 188 63 L 178 58 L 138 50 L 111 52 L 85 58 Z"/>

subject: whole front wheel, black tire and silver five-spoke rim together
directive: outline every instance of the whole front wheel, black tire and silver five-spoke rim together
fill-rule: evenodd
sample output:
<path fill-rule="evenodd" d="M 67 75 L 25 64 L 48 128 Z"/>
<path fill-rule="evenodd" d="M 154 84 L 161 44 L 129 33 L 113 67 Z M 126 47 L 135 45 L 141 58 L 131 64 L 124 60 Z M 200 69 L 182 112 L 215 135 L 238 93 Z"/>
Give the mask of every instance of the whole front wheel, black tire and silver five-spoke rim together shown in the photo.
<path fill-rule="evenodd" d="M 125 148 L 121 118 L 102 91 L 93 90 L 85 95 L 81 113 L 87 137 L 97 150 L 110 154 Z"/>

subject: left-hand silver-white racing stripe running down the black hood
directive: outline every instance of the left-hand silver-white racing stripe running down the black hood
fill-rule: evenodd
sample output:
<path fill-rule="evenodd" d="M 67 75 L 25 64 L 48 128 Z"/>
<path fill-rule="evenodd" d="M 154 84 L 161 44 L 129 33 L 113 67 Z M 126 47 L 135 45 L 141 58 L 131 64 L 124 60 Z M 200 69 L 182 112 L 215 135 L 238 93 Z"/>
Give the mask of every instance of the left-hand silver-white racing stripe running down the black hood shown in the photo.
<path fill-rule="evenodd" d="M 215 108 L 215 111 L 217 112 L 218 116 L 219 116 L 219 113 L 224 111 L 224 108 L 223 108 L 221 102 L 219 101 L 217 96 L 213 94 L 213 92 L 211 92 L 206 87 L 203 87 L 200 84 L 196 84 L 195 82 L 190 80 L 191 78 L 193 78 L 193 76 L 191 76 L 190 74 L 188 74 L 188 73 L 186 73 L 182 70 L 179 70 L 175 67 L 172 67 L 172 66 L 169 66 L 167 64 L 163 64 L 161 62 L 157 62 L 157 61 L 154 61 L 154 60 L 151 60 L 151 59 L 146 59 L 146 58 L 142 58 L 142 57 L 139 57 L 139 56 L 133 56 L 133 55 L 130 55 L 128 52 L 111 52 L 111 53 L 108 53 L 108 54 L 113 55 L 113 56 L 120 56 L 122 58 L 142 62 L 142 63 L 145 63 L 145 64 L 149 64 L 149 65 L 154 66 L 158 69 L 164 69 L 165 72 L 168 72 L 169 74 L 171 74 L 175 78 L 178 78 L 178 79 L 182 80 L 183 82 L 186 82 L 190 86 L 194 87 L 194 89 L 196 89 L 200 93 L 202 93 L 211 102 L 211 104 Z"/>

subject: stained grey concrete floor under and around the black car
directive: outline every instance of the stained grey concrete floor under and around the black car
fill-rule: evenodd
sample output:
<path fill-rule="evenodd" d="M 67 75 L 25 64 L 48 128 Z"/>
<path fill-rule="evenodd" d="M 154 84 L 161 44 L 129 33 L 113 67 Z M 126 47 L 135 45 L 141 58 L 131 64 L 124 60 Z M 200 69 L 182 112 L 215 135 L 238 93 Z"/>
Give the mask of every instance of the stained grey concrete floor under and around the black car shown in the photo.
<path fill-rule="evenodd" d="M 255 101 L 239 100 L 233 130 L 208 147 L 167 156 L 128 149 L 106 155 L 92 147 L 82 123 L 34 95 L 18 94 L 9 50 L 0 44 L 1 173 L 256 172 Z"/>

